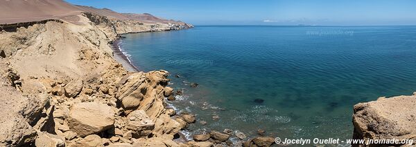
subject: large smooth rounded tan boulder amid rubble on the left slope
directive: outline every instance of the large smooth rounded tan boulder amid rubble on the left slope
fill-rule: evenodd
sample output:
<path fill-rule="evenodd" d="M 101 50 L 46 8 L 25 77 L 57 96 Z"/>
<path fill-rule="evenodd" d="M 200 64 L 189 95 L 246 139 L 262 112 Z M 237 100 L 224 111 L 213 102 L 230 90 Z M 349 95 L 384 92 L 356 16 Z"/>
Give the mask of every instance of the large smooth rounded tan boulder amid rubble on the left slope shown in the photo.
<path fill-rule="evenodd" d="M 71 107 L 68 126 L 80 137 L 112 128 L 114 111 L 110 106 L 95 102 L 78 103 Z"/>

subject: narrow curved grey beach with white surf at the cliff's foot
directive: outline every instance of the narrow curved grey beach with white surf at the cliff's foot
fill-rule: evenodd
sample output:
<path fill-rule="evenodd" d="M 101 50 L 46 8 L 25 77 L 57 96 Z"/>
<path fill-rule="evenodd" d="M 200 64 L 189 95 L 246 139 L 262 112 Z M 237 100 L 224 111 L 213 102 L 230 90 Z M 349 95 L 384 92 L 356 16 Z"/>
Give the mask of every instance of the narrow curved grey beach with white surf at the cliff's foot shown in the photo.
<path fill-rule="evenodd" d="M 133 65 L 133 63 L 130 61 L 130 59 L 125 55 L 123 51 L 121 51 L 121 37 L 117 37 L 112 41 L 112 44 L 110 44 L 110 48 L 113 50 L 113 58 L 117 62 L 121 63 L 125 70 L 128 72 L 140 72 L 139 68 Z"/>

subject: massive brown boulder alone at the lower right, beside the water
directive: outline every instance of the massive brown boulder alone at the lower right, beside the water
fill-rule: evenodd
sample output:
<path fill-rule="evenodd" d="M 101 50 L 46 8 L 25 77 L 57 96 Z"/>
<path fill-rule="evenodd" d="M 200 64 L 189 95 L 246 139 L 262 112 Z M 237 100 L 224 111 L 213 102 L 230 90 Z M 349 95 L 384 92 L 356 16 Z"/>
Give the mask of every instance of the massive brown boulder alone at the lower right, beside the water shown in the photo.
<path fill-rule="evenodd" d="M 353 123 L 354 139 L 416 139 L 416 96 L 356 104 Z"/>

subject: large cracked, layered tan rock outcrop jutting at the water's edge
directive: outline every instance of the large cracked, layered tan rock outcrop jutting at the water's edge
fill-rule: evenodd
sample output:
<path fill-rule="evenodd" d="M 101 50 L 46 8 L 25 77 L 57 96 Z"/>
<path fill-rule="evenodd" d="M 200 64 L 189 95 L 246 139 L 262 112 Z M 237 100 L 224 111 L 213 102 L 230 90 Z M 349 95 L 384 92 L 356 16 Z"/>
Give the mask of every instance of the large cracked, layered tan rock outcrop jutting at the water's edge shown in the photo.
<path fill-rule="evenodd" d="M 133 110 L 144 110 L 155 121 L 164 114 L 164 82 L 168 72 L 164 70 L 152 72 L 137 72 L 125 75 L 118 84 L 116 98 L 124 108 L 125 113 Z"/>

